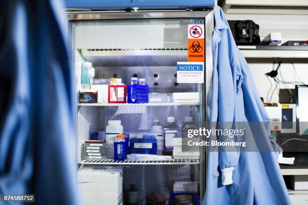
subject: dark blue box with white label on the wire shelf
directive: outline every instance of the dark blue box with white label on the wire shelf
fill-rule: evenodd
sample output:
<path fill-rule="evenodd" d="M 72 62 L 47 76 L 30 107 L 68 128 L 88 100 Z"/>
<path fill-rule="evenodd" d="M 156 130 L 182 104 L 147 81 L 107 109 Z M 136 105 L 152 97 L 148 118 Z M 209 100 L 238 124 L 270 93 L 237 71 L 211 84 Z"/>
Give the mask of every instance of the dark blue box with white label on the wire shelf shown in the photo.
<path fill-rule="evenodd" d="M 156 135 L 145 134 L 142 138 L 129 140 L 130 154 L 157 154 Z"/>

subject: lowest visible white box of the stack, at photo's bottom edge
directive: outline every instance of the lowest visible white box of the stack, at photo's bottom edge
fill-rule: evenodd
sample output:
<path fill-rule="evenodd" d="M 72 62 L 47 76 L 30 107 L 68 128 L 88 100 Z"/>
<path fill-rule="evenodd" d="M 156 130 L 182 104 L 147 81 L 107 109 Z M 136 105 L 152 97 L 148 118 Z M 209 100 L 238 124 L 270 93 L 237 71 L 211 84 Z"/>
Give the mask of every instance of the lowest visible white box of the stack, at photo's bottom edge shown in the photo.
<path fill-rule="evenodd" d="M 91 192 L 84 192 L 82 193 L 82 204 L 100 204 L 100 205 L 111 205 L 111 204 L 121 204 L 123 202 L 123 194 L 121 193 L 120 196 L 116 194 L 110 193 L 91 193 Z"/>

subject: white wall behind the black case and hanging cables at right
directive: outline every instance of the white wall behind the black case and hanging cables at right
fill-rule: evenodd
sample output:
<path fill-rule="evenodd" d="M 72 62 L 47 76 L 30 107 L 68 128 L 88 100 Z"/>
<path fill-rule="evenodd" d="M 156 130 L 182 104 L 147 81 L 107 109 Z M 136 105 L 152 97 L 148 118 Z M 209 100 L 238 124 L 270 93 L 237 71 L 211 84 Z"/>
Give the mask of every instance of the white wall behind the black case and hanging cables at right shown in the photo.
<path fill-rule="evenodd" d="M 227 14 L 226 18 L 227 20 L 252 20 L 256 24 L 259 24 L 261 40 L 270 32 L 281 32 L 282 42 L 288 40 L 308 40 L 308 15 Z M 259 94 L 266 101 L 271 84 L 266 78 L 265 73 L 272 70 L 273 64 L 262 63 L 260 60 L 260 63 L 250 63 L 249 65 Z M 305 84 L 308 84 L 308 64 L 294 63 L 294 66 L 299 78 Z M 299 81 L 298 78 L 294 80 L 294 71 L 291 64 L 282 64 L 280 69 L 285 81 Z M 280 75 L 279 79 L 281 79 Z M 271 79 L 271 82 L 273 87 L 275 87 L 273 79 Z M 278 86 L 285 88 L 282 83 Z M 288 84 L 288 87 L 291 89 L 295 86 Z M 271 102 L 278 102 L 278 100 L 278 93 L 275 91 Z"/>

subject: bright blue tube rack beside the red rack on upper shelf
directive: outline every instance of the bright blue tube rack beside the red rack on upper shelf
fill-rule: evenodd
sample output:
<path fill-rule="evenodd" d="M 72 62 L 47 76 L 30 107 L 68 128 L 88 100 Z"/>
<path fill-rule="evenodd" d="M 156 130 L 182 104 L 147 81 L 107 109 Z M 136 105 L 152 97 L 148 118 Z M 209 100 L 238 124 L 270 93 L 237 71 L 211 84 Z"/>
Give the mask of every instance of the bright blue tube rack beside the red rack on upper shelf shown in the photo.
<path fill-rule="evenodd" d="M 134 87 L 136 89 L 136 100 L 132 101 L 130 98 L 130 90 Z M 140 104 L 148 103 L 148 85 L 127 85 L 127 103 Z"/>

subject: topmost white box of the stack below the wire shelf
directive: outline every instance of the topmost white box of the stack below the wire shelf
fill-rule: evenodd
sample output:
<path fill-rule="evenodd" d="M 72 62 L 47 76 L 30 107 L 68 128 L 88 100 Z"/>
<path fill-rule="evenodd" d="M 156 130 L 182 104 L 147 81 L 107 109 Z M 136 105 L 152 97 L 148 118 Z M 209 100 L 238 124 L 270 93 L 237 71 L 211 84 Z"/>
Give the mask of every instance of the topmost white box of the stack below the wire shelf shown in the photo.
<path fill-rule="evenodd" d="M 122 184 L 123 168 L 87 165 L 78 171 L 78 182 Z"/>

